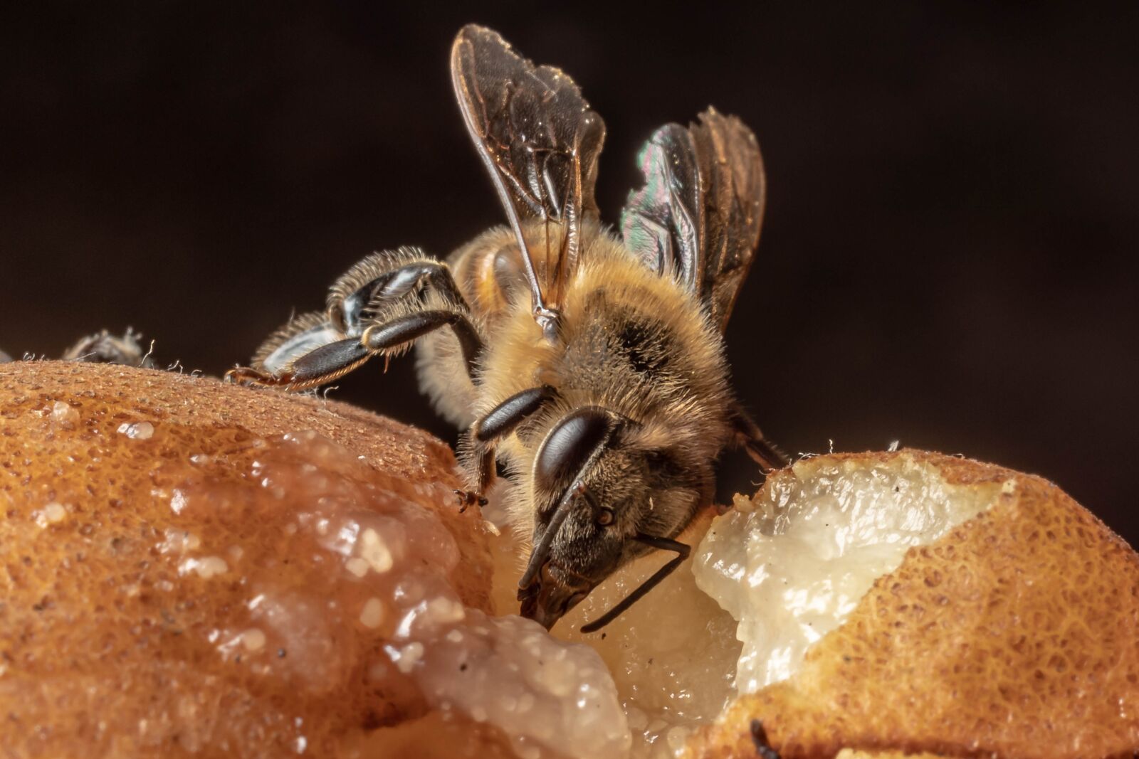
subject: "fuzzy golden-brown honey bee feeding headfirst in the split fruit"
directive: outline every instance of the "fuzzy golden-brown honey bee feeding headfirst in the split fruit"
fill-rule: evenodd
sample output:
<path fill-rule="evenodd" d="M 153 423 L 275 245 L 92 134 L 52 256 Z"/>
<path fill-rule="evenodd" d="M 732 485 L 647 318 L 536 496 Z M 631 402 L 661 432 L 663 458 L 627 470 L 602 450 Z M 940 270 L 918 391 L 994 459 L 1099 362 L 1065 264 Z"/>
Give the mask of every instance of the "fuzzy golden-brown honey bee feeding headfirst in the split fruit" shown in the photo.
<path fill-rule="evenodd" d="M 228 378 L 310 388 L 418 343 L 423 389 L 466 430 L 460 498 L 481 500 L 497 463 L 507 472 L 511 526 L 532 546 L 523 616 L 550 628 L 618 567 L 677 554 L 592 632 L 688 555 L 675 538 L 711 504 L 724 448 L 786 464 L 732 394 L 722 336 L 759 241 L 760 149 L 712 108 L 662 126 L 618 236 L 593 199 L 605 125 L 568 76 L 473 25 L 451 75 L 509 225 L 445 263 L 413 248 L 366 257 L 323 312 Z"/>

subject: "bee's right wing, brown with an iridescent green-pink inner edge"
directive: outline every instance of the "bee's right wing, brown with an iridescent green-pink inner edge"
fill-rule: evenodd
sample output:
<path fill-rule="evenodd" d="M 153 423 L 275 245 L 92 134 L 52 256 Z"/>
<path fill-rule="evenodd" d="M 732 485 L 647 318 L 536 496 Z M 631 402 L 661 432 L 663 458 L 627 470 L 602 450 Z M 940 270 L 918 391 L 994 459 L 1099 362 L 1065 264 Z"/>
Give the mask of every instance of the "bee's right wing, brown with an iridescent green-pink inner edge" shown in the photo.
<path fill-rule="evenodd" d="M 760 240 L 765 181 L 755 135 L 714 108 L 658 129 L 641 150 L 645 187 L 621 214 L 625 246 L 707 304 L 723 330 Z"/>

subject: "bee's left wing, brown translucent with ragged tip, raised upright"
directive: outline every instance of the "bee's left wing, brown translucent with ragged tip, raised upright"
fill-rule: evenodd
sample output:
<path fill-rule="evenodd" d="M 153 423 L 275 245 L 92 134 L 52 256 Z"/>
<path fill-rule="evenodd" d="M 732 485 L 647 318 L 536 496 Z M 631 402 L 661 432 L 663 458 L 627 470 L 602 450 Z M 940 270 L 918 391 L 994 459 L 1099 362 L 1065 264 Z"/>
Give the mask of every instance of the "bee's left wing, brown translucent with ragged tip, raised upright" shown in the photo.
<path fill-rule="evenodd" d="M 597 216 L 593 183 L 605 123 L 573 80 L 534 66 L 497 32 L 465 26 L 451 49 L 451 79 L 478 155 L 490 171 L 526 263 L 535 307 L 557 307 L 577 265 L 581 223 Z M 522 224 L 558 222 L 543 249 L 530 249 Z"/>

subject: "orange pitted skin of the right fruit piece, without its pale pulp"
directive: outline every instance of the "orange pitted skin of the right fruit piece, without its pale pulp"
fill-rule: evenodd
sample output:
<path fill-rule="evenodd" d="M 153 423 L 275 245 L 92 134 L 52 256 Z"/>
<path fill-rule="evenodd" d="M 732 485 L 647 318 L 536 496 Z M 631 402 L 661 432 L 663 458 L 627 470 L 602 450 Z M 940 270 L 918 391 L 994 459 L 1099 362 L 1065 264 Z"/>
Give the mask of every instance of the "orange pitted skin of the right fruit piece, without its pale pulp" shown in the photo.
<path fill-rule="evenodd" d="M 782 757 L 841 749 L 943 756 L 1132 756 L 1139 749 L 1139 556 L 1055 485 L 920 452 L 997 502 L 911 548 L 788 680 L 738 699 L 697 757 L 755 757 L 761 719 Z"/>

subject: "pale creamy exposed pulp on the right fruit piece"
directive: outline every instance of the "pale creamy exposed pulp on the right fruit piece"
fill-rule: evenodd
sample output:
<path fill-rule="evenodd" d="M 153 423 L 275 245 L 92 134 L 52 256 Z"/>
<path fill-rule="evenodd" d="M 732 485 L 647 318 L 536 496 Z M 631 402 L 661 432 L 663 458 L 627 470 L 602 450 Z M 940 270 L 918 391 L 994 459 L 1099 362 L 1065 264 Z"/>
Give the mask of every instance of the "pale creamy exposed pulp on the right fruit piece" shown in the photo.
<path fill-rule="evenodd" d="M 948 486 L 906 455 L 880 465 L 804 460 L 772 476 L 754 501 L 737 496 L 695 563 L 700 588 L 739 620 L 737 688 L 790 677 L 875 578 L 991 502 L 986 490 Z"/>

